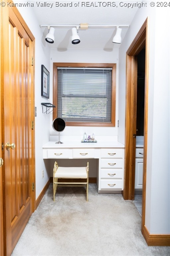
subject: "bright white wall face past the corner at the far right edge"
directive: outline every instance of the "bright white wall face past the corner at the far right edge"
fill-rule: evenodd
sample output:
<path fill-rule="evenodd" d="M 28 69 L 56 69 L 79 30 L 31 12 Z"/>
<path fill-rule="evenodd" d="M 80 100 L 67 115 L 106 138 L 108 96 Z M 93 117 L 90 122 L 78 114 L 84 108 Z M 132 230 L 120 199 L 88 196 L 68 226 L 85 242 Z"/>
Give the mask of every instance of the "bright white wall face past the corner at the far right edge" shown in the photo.
<path fill-rule="evenodd" d="M 170 19 L 169 12 L 156 10 L 155 19 L 155 52 L 154 52 L 154 92 L 153 97 L 153 128 L 150 174 L 151 186 L 147 190 L 151 194 L 150 230 L 152 233 L 170 233 Z M 162 40 L 165 38 L 165 40 Z M 160 40 L 161 39 L 161 40 Z M 163 43 L 163 45 L 162 45 Z M 162 65 L 161 65 L 162 63 Z M 149 157 L 149 156 L 148 156 Z M 148 176 L 148 175 L 147 175 Z M 150 189 L 151 187 L 151 189 Z M 161 189 L 161 193 L 160 193 Z M 147 192 L 146 190 L 146 192 Z M 163 199 L 163 200 L 162 200 Z M 159 202 L 159 207 L 157 203 Z M 162 219 L 161 225 L 158 223 Z"/>

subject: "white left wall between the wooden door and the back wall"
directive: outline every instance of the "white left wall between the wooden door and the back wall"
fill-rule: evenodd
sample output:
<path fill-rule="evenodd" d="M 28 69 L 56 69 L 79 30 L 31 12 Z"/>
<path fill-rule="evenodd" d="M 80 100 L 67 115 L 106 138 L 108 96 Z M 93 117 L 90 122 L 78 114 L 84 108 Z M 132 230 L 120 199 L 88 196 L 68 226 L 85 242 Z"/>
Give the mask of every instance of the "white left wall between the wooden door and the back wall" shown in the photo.
<path fill-rule="evenodd" d="M 42 145 L 49 141 L 50 114 L 42 114 L 41 105 L 41 102 L 50 102 L 50 100 L 41 96 L 41 65 L 43 64 L 46 69 L 50 71 L 50 48 L 48 44 L 45 43 L 40 24 L 34 14 L 33 8 L 18 7 L 18 10 L 35 37 L 35 106 L 37 107 L 37 117 L 35 117 L 35 157 L 37 199 L 50 178 L 48 162 L 43 161 L 42 158 Z M 49 88 L 50 92 L 51 90 L 52 87 Z M 44 170 L 43 179 L 42 170 Z"/>

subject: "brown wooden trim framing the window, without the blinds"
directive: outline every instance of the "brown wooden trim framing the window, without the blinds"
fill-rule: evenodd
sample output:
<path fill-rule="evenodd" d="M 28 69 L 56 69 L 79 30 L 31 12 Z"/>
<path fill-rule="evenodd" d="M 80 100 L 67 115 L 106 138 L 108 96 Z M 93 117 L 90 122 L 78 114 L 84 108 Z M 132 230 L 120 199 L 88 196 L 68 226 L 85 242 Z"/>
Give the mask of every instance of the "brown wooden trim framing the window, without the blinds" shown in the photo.
<path fill-rule="evenodd" d="M 111 123 L 100 122 L 66 122 L 67 126 L 103 126 L 115 127 L 116 116 L 116 64 L 115 63 L 53 63 L 53 120 L 57 117 L 57 67 L 91 67 L 91 68 L 112 68 L 112 107 Z"/>

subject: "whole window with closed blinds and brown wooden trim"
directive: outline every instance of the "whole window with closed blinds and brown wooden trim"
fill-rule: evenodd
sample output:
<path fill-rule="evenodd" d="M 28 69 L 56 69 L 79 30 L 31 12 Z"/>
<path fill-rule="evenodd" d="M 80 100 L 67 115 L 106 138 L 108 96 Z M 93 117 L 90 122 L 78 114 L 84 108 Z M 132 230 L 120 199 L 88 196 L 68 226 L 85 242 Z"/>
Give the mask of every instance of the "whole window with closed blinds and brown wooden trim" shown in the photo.
<path fill-rule="evenodd" d="M 54 116 L 66 125 L 115 126 L 116 64 L 54 63 Z"/>

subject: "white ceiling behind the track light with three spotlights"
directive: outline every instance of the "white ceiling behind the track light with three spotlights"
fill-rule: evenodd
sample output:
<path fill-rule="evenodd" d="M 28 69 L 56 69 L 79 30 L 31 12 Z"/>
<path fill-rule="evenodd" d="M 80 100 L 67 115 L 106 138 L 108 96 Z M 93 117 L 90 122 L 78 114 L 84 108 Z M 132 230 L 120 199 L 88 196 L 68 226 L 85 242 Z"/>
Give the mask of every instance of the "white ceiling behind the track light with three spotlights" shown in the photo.
<path fill-rule="evenodd" d="M 99 6 L 98 1 L 88 2 L 91 7 L 83 6 L 87 1 L 40 1 L 40 4 L 49 3 L 50 7 L 37 6 L 39 1 L 34 3 L 34 12 L 37 16 L 40 25 L 79 25 L 80 23 L 88 23 L 89 25 L 130 25 L 137 8 L 120 7 L 118 1 L 117 7 Z M 55 4 L 69 3 L 72 6 L 56 7 Z M 79 3 L 79 7 L 75 7 Z M 101 5 L 106 5 L 109 2 L 100 2 Z M 93 7 L 93 5 L 96 5 Z M 44 37 L 48 33 L 47 28 L 41 28 Z M 122 28 L 122 40 L 128 28 Z M 78 35 L 80 43 L 73 45 L 71 43 L 71 27 L 70 28 L 55 28 L 53 44 L 49 44 L 51 48 L 57 48 L 58 51 L 66 51 L 72 49 L 104 49 L 112 51 L 119 48 L 120 44 L 112 43 L 116 33 L 115 28 L 88 28 L 87 30 L 79 29 Z"/>

